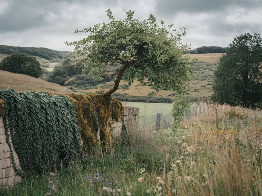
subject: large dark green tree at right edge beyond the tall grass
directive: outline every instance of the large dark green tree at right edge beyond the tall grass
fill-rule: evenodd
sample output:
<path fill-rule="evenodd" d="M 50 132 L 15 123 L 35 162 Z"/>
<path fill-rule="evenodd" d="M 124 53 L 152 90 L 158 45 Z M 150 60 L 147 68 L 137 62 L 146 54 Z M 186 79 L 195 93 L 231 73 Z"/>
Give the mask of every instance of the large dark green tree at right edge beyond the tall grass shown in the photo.
<path fill-rule="evenodd" d="M 229 44 L 215 71 L 212 99 L 219 103 L 259 106 L 262 101 L 262 39 L 241 34 Z"/>

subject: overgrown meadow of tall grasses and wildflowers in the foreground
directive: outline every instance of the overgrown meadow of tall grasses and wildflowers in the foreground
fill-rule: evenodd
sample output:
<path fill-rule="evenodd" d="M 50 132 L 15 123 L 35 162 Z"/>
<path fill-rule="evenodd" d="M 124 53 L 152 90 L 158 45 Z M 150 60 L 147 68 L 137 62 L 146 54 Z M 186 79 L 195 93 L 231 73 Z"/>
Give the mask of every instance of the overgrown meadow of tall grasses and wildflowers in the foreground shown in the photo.
<path fill-rule="evenodd" d="M 56 171 L 27 174 L 0 195 L 261 195 L 262 112 L 201 105 L 174 137 L 130 132 Z"/>

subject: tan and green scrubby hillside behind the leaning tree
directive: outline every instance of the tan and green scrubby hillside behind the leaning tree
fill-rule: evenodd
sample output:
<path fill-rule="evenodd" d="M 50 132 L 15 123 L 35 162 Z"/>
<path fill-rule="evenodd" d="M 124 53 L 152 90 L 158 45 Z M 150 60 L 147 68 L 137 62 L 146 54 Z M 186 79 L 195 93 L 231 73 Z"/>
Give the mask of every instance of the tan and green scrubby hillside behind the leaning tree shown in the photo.
<path fill-rule="evenodd" d="M 218 62 L 222 53 L 214 54 L 190 54 L 190 57 L 198 58 L 198 61 L 192 62 L 192 65 L 195 67 L 195 74 L 193 75 L 192 80 L 189 83 L 189 94 L 193 97 L 210 97 L 212 94 L 212 81 L 214 77 L 214 71 L 218 66 Z M 108 89 L 113 85 L 113 81 L 105 82 L 99 85 L 94 86 L 92 89 L 87 91 L 95 92 L 100 89 L 100 86 L 103 86 L 104 89 Z M 129 94 L 134 96 L 148 96 L 154 92 L 154 89 L 148 86 L 141 86 L 141 84 L 135 80 L 131 85 L 125 85 L 121 81 L 119 85 L 118 93 Z M 173 97 L 176 95 L 173 91 L 164 91 L 161 90 L 157 93 L 157 96 L 168 96 Z"/>

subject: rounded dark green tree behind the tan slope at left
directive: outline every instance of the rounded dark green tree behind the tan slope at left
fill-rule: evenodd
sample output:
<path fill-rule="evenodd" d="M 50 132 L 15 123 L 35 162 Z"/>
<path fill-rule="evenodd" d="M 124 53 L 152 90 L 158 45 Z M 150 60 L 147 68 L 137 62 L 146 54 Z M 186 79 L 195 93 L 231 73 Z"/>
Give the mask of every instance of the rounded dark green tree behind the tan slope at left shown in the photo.
<path fill-rule="evenodd" d="M 35 78 L 39 78 L 42 74 L 42 69 L 36 58 L 21 53 L 5 57 L 0 62 L 0 70 L 26 74 Z"/>

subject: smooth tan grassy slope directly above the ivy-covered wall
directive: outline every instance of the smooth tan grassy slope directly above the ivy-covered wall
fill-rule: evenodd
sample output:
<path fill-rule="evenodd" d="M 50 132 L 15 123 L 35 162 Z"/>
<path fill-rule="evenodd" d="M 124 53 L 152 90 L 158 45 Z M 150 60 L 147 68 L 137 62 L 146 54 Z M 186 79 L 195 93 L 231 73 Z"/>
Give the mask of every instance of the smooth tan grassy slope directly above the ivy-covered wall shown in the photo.
<path fill-rule="evenodd" d="M 48 91 L 50 93 L 72 93 L 70 89 L 59 84 L 46 82 L 24 74 L 0 70 L 0 89 L 12 88 L 15 91 Z"/>

